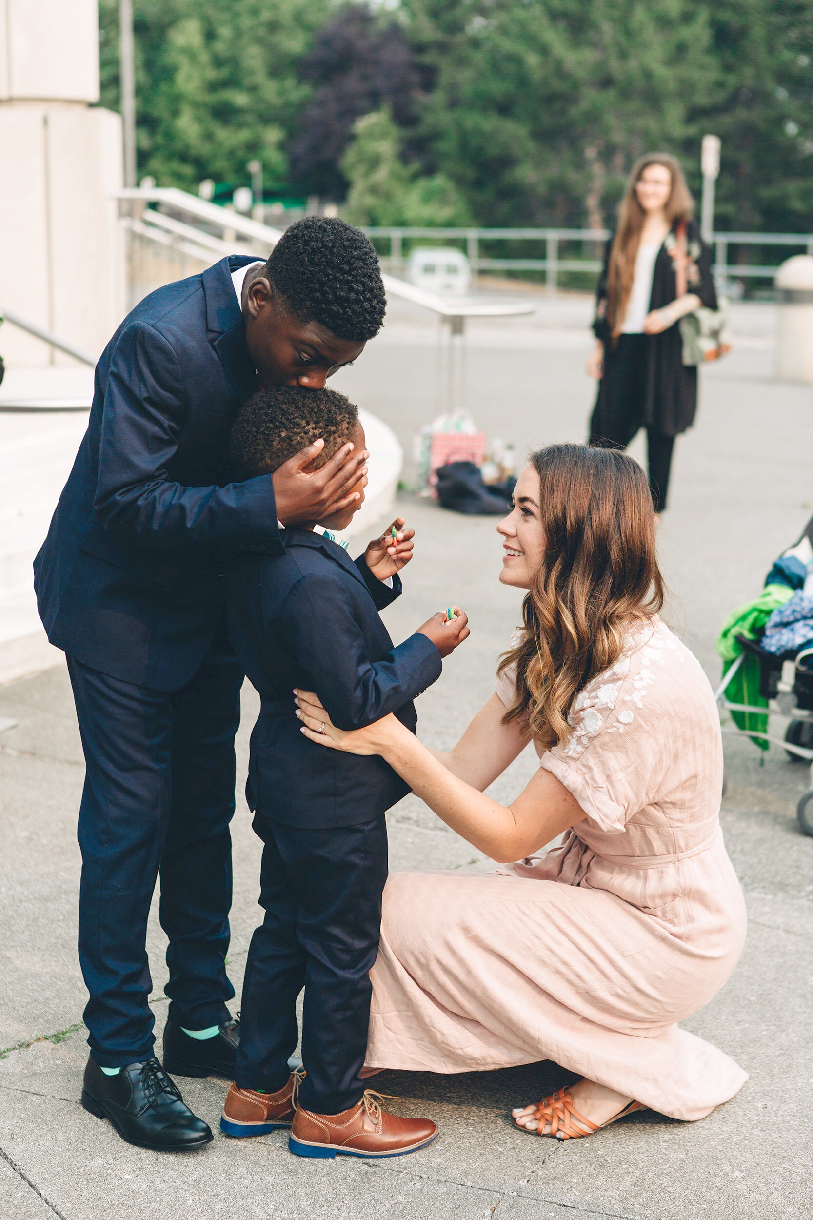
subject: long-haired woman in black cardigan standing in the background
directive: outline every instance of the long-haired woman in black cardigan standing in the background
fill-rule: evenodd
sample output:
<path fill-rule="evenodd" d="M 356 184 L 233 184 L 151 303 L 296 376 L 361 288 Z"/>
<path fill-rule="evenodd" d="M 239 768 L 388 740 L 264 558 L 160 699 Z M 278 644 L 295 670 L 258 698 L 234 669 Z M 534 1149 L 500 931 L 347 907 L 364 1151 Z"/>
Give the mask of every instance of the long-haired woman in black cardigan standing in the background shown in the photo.
<path fill-rule="evenodd" d="M 625 449 L 646 428 L 656 512 L 667 506 L 674 439 L 697 409 L 697 368 L 683 362 L 678 323 L 701 305 L 717 309 L 711 246 L 680 162 L 650 152 L 633 167 L 607 242 L 588 372 L 598 378 L 590 444 Z"/>

